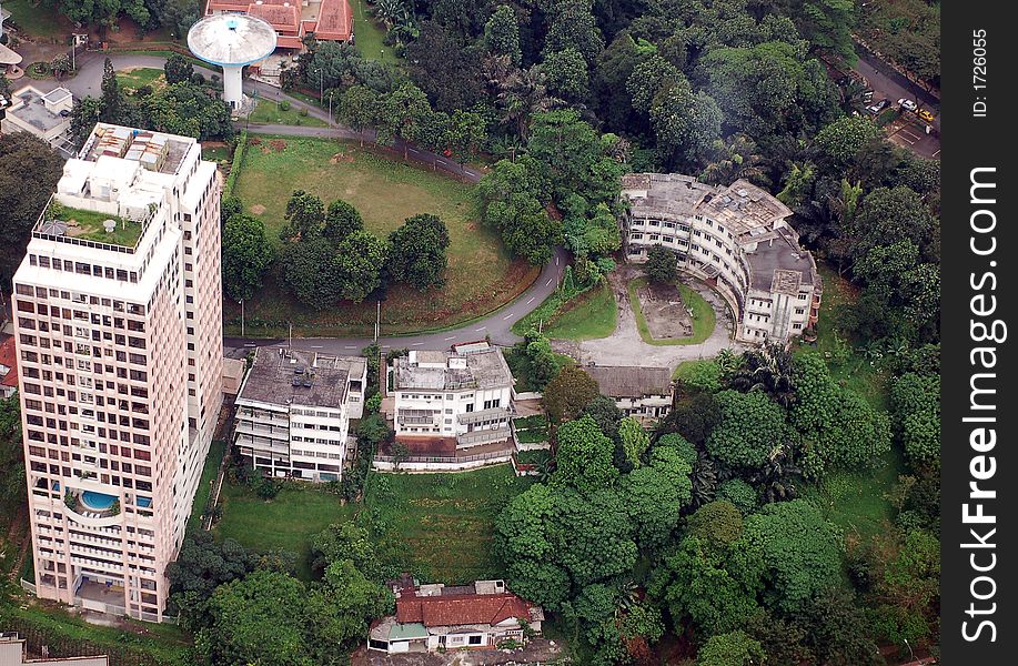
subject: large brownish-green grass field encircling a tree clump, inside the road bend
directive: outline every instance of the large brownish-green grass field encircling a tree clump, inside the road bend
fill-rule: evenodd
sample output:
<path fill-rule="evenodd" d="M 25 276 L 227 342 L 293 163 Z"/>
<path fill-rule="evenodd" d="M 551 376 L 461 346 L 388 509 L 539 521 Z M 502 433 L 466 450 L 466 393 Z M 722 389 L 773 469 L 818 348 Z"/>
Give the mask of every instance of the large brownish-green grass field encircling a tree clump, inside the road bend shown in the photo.
<path fill-rule="evenodd" d="M 442 218 L 451 241 L 446 286 L 424 294 L 393 286 L 382 304 L 383 335 L 443 329 L 486 314 L 520 294 L 540 272 L 512 261 L 497 234 L 477 223 L 471 185 L 391 160 L 373 147 L 260 137 L 249 142 L 241 169 L 234 194 L 265 223 L 276 244 L 286 201 L 300 189 L 326 205 L 335 199 L 350 202 L 367 230 L 383 238 L 416 213 Z M 240 309 L 229 303 L 225 310 L 232 333 L 240 327 Z M 289 323 L 298 335 L 359 334 L 372 331 L 375 321 L 374 302 L 341 303 L 324 312 L 304 307 L 280 289 L 278 276 L 245 310 L 246 332 L 255 335 L 284 334 Z"/>

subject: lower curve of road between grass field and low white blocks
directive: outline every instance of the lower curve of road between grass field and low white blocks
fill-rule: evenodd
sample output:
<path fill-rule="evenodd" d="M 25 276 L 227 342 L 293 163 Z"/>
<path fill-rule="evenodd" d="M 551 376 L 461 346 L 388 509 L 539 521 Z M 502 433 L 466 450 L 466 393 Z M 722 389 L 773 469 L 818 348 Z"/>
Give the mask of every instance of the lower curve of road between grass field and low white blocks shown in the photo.
<path fill-rule="evenodd" d="M 537 280 L 520 295 L 518 299 L 501 310 L 483 319 L 464 324 L 457 329 L 439 331 L 435 333 L 420 333 L 416 335 L 385 336 L 379 344 L 383 350 L 389 349 L 424 349 L 444 350 L 450 345 L 461 342 L 473 342 L 490 336 L 495 344 L 511 345 L 520 341 L 520 336 L 512 332 L 512 325 L 528 314 L 548 297 L 558 286 L 562 271 L 566 265 L 568 254 L 562 248 L 556 249 L 555 258 L 548 262 Z M 371 344 L 371 337 L 308 337 L 302 339 L 300 346 L 331 354 L 357 354 Z M 266 340 L 260 337 L 226 337 L 223 346 L 226 355 L 234 359 L 243 356 L 255 346 L 280 346 L 288 344 L 285 340 Z"/>

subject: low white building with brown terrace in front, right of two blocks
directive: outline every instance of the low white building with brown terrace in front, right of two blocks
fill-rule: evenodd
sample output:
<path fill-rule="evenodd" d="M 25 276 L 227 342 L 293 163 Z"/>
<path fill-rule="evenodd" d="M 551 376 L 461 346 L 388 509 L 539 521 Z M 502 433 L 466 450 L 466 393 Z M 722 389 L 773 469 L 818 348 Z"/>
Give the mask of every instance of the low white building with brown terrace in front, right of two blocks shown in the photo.
<path fill-rule="evenodd" d="M 397 438 L 455 440 L 467 448 L 512 436 L 513 375 L 502 350 L 411 351 L 389 371 Z"/>

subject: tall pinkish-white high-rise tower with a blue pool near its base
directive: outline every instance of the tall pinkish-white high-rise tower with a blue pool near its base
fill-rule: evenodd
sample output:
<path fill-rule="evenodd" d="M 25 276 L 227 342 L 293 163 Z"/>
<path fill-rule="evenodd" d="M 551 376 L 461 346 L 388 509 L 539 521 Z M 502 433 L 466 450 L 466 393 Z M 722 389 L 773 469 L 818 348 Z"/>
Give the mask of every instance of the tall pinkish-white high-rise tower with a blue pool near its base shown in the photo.
<path fill-rule="evenodd" d="M 162 620 L 222 404 L 220 182 L 98 124 L 14 275 L 36 591 Z"/>

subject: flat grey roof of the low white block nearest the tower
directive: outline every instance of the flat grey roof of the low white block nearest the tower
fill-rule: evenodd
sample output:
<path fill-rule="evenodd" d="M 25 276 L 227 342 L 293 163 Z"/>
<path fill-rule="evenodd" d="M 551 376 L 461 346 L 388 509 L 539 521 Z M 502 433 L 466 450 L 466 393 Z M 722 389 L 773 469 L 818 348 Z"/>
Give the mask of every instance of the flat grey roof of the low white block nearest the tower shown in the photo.
<path fill-rule="evenodd" d="M 238 401 L 340 408 L 350 365 L 303 350 L 259 350 Z"/>

